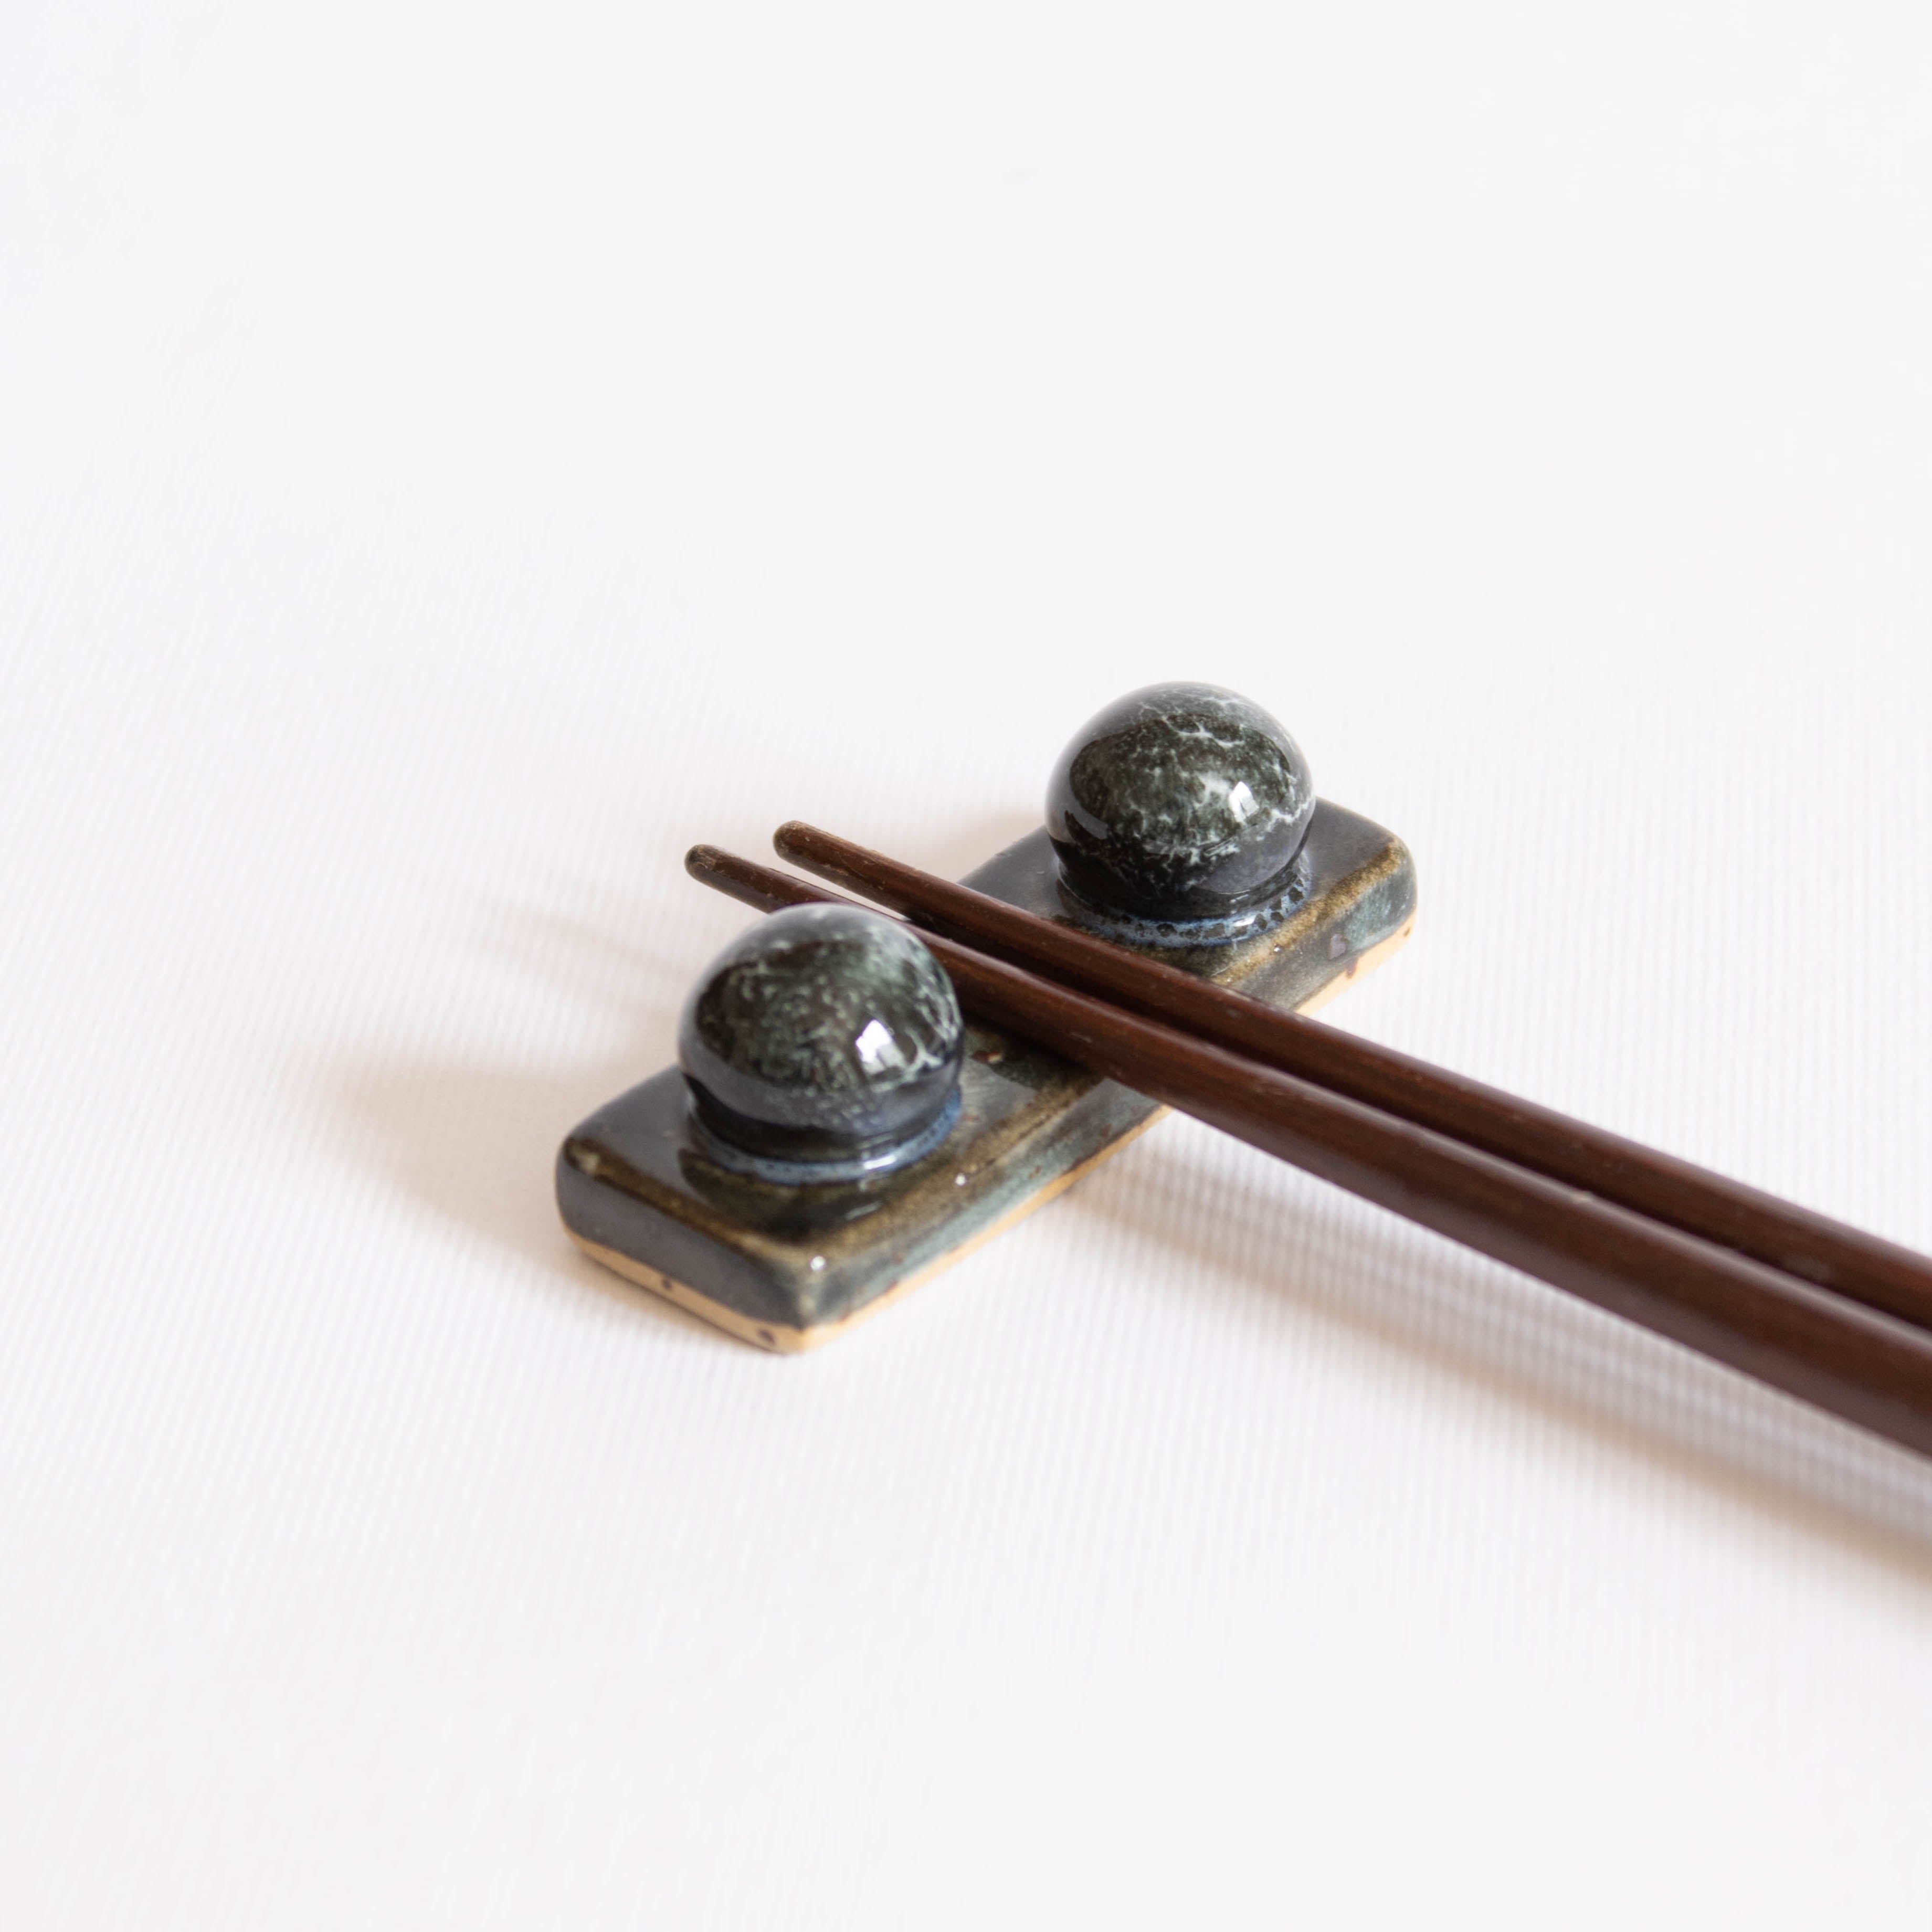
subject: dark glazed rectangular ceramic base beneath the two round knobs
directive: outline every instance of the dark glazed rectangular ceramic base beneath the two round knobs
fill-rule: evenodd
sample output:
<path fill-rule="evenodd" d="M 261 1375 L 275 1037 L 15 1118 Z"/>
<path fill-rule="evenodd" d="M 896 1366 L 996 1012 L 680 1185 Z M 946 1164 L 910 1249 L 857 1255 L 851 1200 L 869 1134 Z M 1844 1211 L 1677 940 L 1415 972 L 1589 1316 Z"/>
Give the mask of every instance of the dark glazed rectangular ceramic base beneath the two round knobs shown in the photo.
<path fill-rule="evenodd" d="M 1275 927 L 1161 958 L 1283 1007 L 1376 964 L 1414 914 L 1406 846 L 1321 804 L 1308 891 Z M 1065 920 L 1059 862 L 1032 833 L 968 885 Z M 956 1260 L 1124 1146 L 1159 1107 L 1039 1047 L 966 1026 L 958 1117 L 923 1157 L 831 1186 L 732 1171 L 694 1132 L 684 1078 L 657 1074 L 564 1142 L 556 1198 L 601 1262 L 765 1349 L 808 1349 Z"/>

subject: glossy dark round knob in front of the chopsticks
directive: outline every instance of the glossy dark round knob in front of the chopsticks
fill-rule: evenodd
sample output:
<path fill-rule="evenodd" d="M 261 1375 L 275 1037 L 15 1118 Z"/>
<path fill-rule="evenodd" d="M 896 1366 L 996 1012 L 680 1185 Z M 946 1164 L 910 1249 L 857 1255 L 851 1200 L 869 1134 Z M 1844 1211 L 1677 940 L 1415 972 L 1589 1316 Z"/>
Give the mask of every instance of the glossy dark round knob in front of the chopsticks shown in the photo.
<path fill-rule="evenodd" d="M 939 962 L 858 906 L 773 914 L 711 962 L 678 1022 L 713 1153 L 775 1180 L 854 1179 L 937 1146 L 964 1051 Z"/>

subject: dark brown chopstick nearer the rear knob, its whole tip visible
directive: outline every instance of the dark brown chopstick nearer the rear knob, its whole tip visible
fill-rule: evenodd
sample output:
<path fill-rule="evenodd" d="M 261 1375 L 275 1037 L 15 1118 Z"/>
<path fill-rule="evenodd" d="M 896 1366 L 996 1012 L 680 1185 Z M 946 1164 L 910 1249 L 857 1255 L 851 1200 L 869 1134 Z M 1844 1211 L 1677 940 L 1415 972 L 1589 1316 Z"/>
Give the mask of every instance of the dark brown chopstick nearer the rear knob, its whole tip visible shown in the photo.
<path fill-rule="evenodd" d="M 1911 1248 L 1320 1020 L 1265 1007 L 811 825 L 781 825 L 773 844 L 806 871 L 906 914 L 923 931 L 943 933 L 1932 1329 L 1932 1260 Z"/>

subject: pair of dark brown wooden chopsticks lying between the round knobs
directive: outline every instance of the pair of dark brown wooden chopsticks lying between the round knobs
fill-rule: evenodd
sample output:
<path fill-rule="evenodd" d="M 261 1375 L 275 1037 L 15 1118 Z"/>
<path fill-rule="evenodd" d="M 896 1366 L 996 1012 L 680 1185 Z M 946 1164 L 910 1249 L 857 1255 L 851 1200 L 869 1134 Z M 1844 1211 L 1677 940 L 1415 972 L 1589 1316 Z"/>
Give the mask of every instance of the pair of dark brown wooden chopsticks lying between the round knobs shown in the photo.
<path fill-rule="evenodd" d="M 810 825 L 775 844 L 920 925 L 978 1018 L 1932 1455 L 1924 1256 Z M 765 912 L 838 896 L 684 864 Z"/>

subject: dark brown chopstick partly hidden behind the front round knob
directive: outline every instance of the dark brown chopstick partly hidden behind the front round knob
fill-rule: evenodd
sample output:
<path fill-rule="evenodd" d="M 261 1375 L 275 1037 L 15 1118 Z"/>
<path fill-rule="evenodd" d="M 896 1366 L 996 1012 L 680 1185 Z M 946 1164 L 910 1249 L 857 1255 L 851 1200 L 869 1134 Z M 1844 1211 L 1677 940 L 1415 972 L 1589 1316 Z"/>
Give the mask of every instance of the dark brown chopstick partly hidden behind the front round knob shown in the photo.
<path fill-rule="evenodd" d="M 715 846 L 692 877 L 771 912 L 837 900 Z M 925 941 L 966 1010 L 1835 1416 L 1932 1455 L 1932 1335 L 1627 1208 L 1109 1007 Z"/>

